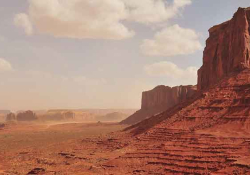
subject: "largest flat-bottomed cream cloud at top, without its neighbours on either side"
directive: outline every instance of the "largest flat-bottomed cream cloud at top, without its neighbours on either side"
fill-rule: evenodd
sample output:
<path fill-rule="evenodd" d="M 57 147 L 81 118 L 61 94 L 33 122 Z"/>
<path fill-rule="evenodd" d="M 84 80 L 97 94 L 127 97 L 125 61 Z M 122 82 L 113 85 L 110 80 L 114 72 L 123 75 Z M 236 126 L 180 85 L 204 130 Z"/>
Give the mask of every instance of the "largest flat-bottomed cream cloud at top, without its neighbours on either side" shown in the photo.
<path fill-rule="evenodd" d="M 134 35 L 121 21 L 121 0 L 29 0 L 28 16 L 40 33 L 54 37 L 124 39 Z"/>

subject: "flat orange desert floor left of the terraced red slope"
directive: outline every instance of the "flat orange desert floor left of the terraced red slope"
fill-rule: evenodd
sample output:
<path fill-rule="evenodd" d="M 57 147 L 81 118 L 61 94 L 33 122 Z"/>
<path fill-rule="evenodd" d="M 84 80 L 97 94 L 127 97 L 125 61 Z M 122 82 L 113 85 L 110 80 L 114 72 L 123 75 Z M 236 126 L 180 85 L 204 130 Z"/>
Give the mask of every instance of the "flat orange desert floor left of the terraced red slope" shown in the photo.
<path fill-rule="evenodd" d="M 120 154 L 107 154 L 113 149 L 102 146 L 102 138 L 124 127 L 9 124 L 0 130 L 0 174 L 100 174 L 98 164 Z"/>

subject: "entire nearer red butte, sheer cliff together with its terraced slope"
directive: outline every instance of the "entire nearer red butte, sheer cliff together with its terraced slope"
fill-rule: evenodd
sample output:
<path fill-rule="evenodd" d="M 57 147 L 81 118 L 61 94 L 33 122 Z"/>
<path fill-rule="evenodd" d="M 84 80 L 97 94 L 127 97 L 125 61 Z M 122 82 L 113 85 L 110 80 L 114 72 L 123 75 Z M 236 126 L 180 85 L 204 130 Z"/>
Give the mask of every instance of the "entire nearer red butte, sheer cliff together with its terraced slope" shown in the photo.
<path fill-rule="evenodd" d="M 127 128 L 133 149 L 109 172 L 250 174 L 249 10 L 210 29 L 195 97 Z"/>

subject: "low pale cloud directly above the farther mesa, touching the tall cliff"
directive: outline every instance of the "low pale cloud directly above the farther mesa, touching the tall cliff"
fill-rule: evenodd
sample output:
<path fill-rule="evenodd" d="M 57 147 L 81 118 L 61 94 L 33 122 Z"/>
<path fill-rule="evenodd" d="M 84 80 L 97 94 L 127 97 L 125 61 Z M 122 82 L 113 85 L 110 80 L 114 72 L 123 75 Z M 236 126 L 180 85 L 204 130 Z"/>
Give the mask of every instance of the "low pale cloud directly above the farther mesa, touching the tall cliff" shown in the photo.
<path fill-rule="evenodd" d="M 196 67 L 182 69 L 176 64 L 168 61 L 158 62 L 144 67 L 145 72 L 153 77 L 168 77 L 179 82 L 179 84 L 196 84 Z"/>

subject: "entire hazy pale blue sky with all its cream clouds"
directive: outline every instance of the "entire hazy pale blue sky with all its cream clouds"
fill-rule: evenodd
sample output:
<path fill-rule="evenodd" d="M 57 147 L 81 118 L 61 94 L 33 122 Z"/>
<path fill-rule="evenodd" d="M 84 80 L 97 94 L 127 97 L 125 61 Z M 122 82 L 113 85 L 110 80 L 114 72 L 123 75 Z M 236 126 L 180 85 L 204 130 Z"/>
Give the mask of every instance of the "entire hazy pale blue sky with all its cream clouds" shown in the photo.
<path fill-rule="evenodd" d="M 249 0 L 1 0 L 0 109 L 140 108 L 195 85 L 208 29 Z"/>

